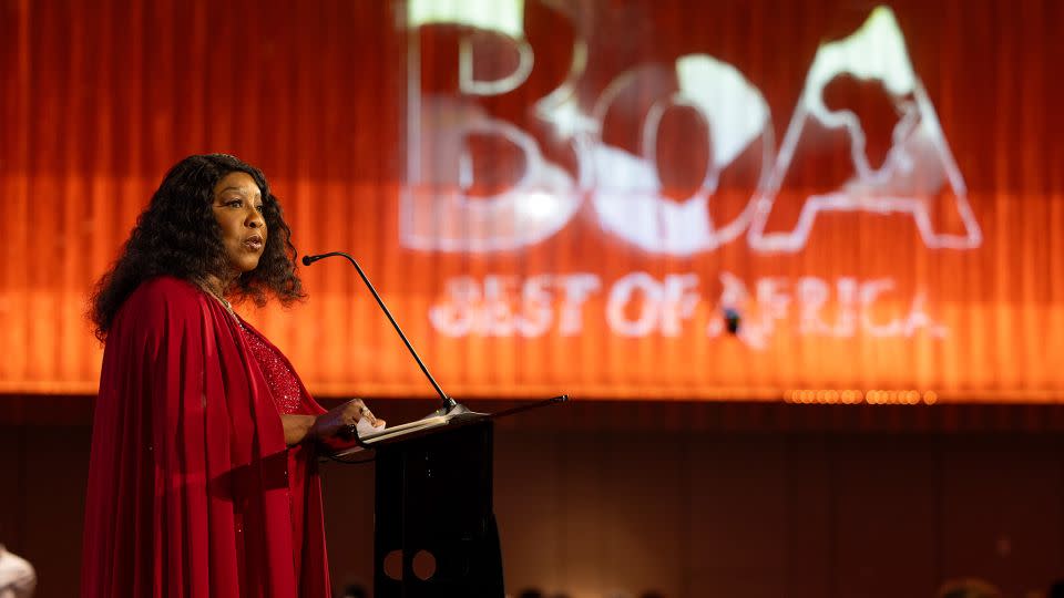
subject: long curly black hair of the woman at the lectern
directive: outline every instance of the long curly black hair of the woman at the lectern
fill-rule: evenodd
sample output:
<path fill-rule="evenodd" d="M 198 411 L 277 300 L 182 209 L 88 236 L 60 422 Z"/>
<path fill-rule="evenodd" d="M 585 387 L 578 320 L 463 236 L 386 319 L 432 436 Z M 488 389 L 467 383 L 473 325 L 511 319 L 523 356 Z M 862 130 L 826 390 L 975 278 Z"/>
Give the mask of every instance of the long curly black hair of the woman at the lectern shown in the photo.
<path fill-rule="evenodd" d="M 250 298 L 258 306 L 266 303 L 267 293 L 284 305 L 305 297 L 291 230 L 263 173 L 225 154 L 188 156 L 166 173 L 121 256 L 96 282 L 89 308 L 96 338 L 106 339 L 119 308 L 141 282 L 168 275 L 202 283 L 207 275 L 229 268 L 212 205 L 214 187 L 234 172 L 250 175 L 263 194 L 266 247 L 258 266 L 242 274 L 227 293 L 235 301 Z"/>

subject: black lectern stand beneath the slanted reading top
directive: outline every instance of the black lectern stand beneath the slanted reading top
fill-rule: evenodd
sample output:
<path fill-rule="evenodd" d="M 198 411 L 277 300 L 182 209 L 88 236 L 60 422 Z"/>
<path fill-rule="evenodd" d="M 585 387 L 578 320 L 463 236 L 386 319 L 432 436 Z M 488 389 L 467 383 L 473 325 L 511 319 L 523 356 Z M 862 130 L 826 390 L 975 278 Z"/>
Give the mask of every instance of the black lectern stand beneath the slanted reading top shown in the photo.
<path fill-rule="evenodd" d="M 502 598 L 502 554 L 492 506 L 490 417 L 374 444 L 378 598 Z"/>

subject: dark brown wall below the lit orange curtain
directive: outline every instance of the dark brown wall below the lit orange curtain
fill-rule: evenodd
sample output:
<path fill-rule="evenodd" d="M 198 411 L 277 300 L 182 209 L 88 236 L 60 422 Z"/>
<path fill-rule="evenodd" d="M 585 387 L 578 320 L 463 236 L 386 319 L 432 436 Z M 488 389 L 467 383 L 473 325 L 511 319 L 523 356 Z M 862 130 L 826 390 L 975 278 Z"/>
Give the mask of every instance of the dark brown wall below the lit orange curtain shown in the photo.
<path fill-rule="evenodd" d="M 90 411 L 0 409 L 0 525 L 40 596 L 76 594 Z M 366 581 L 372 465 L 325 464 L 323 484 L 334 581 Z M 930 597 L 975 577 L 1037 596 L 1064 559 L 1064 411 L 573 403 L 503 420 L 495 513 L 511 594 Z"/>

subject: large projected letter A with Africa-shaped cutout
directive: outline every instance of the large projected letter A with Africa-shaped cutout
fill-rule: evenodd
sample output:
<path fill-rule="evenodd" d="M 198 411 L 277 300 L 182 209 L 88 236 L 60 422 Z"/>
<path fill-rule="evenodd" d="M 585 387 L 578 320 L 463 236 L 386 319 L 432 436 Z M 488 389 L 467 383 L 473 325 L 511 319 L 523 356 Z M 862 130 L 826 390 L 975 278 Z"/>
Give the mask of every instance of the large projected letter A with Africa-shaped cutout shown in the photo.
<path fill-rule="evenodd" d="M 889 150 L 878 168 L 869 161 L 864 123 L 852 110 L 832 110 L 825 103 L 826 89 L 842 76 L 877 83 L 898 115 Z M 807 134 L 816 128 L 820 135 L 816 131 Z M 839 187 L 806 197 L 792 229 L 766 233 L 779 189 L 796 159 L 809 153 L 809 146 L 818 143 L 822 132 L 841 135 L 849 145 L 849 177 Z M 817 214 L 848 210 L 909 215 L 924 245 L 931 248 L 970 249 L 982 241 L 964 179 L 939 126 L 934 106 L 913 72 L 893 13 L 883 7 L 872 11 L 852 35 L 823 44 L 817 51 L 769 183 L 758 195 L 750 247 L 760 251 L 797 251 L 809 239 Z M 959 223 L 963 231 L 937 229 L 932 218 L 935 213 L 940 215 L 938 220 Z"/>

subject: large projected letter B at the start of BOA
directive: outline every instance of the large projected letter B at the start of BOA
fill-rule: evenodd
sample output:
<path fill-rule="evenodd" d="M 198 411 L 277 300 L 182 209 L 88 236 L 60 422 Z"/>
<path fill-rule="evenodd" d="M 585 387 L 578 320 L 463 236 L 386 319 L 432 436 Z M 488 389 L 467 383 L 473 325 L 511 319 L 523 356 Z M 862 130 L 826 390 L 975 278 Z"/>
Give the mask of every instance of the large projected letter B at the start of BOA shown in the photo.
<path fill-rule="evenodd" d="M 417 30 L 433 24 L 462 29 L 457 90 L 449 89 L 450 82 L 440 90 L 422 89 Z M 580 207 L 573 176 L 545 158 L 530 133 L 492 116 L 478 102 L 512 92 L 529 78 L 534 59 L 524 37 L 524 3 L 410 0 L 407 27 L 413 33 L 402 244 L 437 251 L 516 249 L 565 226 Z M 478 73 L 478 50 L 504 56 Z M 536 105 L 551 101 L 544 97 Z"/>

